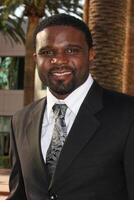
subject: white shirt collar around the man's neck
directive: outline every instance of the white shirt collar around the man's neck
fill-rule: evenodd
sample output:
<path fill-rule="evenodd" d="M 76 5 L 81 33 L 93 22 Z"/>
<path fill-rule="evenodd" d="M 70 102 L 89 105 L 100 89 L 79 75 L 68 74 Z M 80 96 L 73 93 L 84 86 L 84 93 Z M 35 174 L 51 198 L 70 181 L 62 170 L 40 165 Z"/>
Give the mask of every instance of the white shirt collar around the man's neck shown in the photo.
<path fill-rule="evenodd" d="M 52 107 L 55 103 L 65 103 L 70 111 L 72 111 L 75 115 L 77 115 L 79 108 L 86 97 L 91 85 L 93 83 L 93 79 L 91 74 L 89 74 L 87 80 L 76 88 L 69 96 L 67 96 L 64 100 L 57 99 L 47 87 L 47 117 L 50 119 L 52 113 Z"/>

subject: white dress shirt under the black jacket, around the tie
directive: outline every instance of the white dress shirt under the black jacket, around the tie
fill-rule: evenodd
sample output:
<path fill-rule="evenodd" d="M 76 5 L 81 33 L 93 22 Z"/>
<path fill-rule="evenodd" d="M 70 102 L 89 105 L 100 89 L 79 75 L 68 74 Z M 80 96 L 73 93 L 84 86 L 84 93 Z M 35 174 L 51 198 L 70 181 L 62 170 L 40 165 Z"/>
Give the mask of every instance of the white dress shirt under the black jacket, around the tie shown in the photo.
<path fill-rule="evenodd" d="M 93 83 L 93 79 L 89 74 L 87 80 L 75 89 L 69 96 L 67 96 L 64 100 L 59 100 L 55 96 L 52 95 L 49 88 L 47 88 L 47 105 L 44 112 L 42 130 L 41 130 L 41 150 L 44 161 L 46 161 L 46 153 L 48 147 L 51 142 L 53 127 L 54 127 L 54 116 L 52 107 L 55 103 L 66 104 L 68 106 L 65 122 L 67 126 L 67 134 L 69 133 L 72 124 L 75 120 L 75 117 L 80 109 L 80 106 L 85 99 L 91 85 Z"/>

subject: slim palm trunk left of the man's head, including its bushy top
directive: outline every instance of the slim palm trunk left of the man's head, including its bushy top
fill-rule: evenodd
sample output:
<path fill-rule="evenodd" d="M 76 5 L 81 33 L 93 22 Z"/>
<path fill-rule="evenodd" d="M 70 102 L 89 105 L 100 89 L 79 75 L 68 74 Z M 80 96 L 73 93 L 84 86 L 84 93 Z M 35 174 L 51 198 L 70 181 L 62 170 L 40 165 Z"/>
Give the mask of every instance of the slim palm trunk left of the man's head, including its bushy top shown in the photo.
<path fill-rule="evenodd" d="M 24 105 L 34 100 L 35 63 L 33 60 L 33 33 L 39 20 L 44 16 L 45 5 L 46 0 L 38 0 L 33 1 L 30 5 L 26 5 L 25 8 L 25 14 L 28 16 L 28 29 L 26 34 Z"/>

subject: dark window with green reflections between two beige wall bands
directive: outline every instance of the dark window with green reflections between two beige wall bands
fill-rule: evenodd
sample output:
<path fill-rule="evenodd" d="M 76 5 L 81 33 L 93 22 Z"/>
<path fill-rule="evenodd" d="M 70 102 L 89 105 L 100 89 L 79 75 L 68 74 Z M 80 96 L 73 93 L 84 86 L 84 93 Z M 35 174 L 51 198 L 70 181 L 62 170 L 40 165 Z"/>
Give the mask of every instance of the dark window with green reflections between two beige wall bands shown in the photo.
<path fill-rule="evenodd" d="M 24 57 L 0 57 L 0 89 L 23 89 Z"/>

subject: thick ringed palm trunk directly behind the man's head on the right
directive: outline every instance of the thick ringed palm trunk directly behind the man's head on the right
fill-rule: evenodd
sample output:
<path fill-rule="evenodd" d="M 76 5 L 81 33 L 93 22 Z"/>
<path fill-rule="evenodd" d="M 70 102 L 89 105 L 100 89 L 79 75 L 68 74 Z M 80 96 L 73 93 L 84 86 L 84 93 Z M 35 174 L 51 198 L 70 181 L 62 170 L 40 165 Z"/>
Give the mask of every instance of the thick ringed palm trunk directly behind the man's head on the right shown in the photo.
<path fill-rule="evenodd" d="M 88 24 L 96 51 L 91 73 L 102 86 L 122 91 L 127 1 L 87 1 Z"/>

